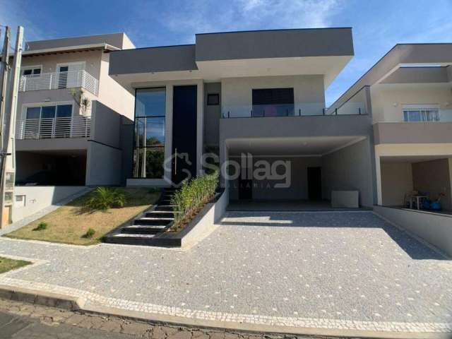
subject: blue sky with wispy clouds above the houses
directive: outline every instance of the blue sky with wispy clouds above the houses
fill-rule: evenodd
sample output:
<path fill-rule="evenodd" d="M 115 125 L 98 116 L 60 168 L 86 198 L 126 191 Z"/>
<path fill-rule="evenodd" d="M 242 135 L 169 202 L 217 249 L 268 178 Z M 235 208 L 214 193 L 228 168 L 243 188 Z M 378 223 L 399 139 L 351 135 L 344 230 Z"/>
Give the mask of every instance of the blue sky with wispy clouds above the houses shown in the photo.
<path fill-rule="evenodd" d="M 452 42 L 452 0 L 0 0 L 0 24 L 26 40 L 126 32 L 137 47 L 228 30 L 352 27 L 355 57 L 326 92 L 331 104 L 394 44 Z"/>

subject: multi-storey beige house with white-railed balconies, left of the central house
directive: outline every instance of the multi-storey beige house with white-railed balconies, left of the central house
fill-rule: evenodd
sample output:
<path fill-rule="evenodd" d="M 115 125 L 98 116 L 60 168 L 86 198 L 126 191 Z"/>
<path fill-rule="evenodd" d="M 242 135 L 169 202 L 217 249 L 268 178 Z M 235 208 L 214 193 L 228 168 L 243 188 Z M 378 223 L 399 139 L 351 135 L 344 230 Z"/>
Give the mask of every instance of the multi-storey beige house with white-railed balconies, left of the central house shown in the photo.
<path fill-rule="evenodd" d="M 130 165 L 122 162 L 122 134 L 133 124 L 134 98 L 112 80 L 108 69 L 110 52 L 135 48 L 129 37 L 115 33 L 33 41 L 25 46 L 18 95 L 16 184 L 125 182 L 123 166 Z"/>

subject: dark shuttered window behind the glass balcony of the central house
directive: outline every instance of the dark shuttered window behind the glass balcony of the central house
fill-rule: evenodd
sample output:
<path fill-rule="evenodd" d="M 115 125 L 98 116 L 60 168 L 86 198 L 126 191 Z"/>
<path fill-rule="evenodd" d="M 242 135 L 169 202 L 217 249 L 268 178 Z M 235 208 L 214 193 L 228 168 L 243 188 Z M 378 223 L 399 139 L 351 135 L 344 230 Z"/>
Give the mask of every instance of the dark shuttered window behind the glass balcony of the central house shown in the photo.
<path fill-rule="evenodd" d="M 293 88 L 263 88 L 252 92 L 253 117 L 292 117 L 295 115 Z"/>

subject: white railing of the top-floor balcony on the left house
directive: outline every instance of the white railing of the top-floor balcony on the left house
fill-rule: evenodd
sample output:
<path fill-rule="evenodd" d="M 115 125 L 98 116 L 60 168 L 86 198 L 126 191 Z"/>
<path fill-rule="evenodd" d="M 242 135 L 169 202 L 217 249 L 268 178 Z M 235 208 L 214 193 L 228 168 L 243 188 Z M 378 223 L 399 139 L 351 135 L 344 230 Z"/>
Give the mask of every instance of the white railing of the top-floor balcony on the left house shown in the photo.
<path fill-rule="evenodd" d="M 55 90 L 59 88 L 84 88 L 94 95 L 99 94 L 99 81 L 87 71 L 67 71 L 21 76 L 19 91 Z"/>

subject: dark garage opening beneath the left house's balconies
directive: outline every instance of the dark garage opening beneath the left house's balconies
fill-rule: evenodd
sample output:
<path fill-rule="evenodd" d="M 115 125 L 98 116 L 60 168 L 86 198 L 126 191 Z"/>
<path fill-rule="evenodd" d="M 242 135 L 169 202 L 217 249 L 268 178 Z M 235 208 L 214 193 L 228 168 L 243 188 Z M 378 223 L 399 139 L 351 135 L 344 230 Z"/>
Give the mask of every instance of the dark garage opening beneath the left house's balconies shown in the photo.
<path fill-rule="evenodd" d="M 16 152 L 16 186 L 84 186 L 86 150 Z"/>

